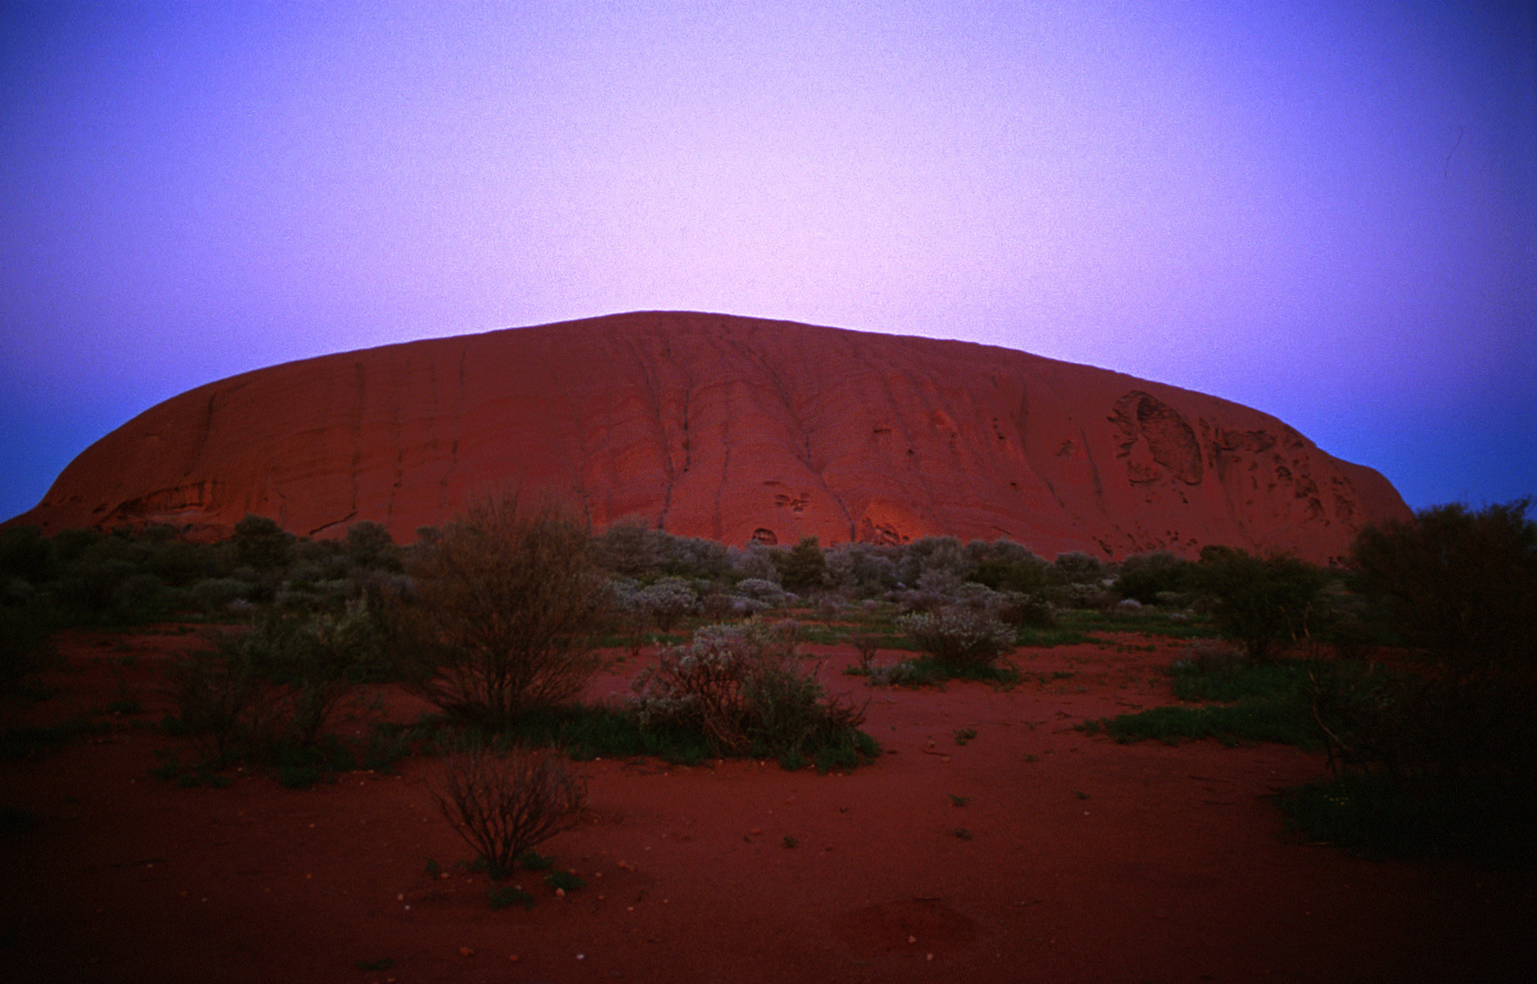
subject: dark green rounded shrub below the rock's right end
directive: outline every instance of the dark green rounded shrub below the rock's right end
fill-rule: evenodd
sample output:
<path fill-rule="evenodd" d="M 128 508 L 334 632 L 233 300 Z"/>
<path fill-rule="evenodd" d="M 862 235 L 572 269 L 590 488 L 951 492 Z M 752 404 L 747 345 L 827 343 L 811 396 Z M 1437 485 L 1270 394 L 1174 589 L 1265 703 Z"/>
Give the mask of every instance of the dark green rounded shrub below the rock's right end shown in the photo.
<path fill-rule="evenodd" d="M 1320 616 L 1325 573 L 1291 554 L 1254 557 L 1231 546 L 1207 546 L 1191 582 L 1211 617 L 1251 660 L 1265 662 L 1308 639 Z"/>

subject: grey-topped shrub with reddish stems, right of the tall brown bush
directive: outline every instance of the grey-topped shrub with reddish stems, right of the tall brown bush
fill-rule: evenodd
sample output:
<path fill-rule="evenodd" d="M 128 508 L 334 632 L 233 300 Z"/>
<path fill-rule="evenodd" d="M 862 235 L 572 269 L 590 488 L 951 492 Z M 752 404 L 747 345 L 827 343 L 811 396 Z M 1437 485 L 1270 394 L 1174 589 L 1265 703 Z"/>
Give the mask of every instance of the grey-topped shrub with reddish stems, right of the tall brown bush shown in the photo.
<path fill-rule="evenodd" d="M 825 700 L 801 668 L 795 625 L 710 625 L 662 654 L 633 685 L 642 729 L 702 734 L 716 754 L 816 754 L 847 743 L 864 712 Z"/>

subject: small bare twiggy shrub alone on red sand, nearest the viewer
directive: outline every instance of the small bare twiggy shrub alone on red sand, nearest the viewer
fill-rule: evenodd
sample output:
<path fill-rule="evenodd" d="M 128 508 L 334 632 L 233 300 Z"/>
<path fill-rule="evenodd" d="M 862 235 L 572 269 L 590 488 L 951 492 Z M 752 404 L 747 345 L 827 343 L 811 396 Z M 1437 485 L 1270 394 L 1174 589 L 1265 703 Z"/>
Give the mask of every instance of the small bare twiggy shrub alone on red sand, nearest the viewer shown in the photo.
<path fill-rule="evenodd" d="M 447 760 L 432 798 L 490 877 L 506 878 L 523 852 L 576 826 L 587 788 L 555 755 L 481 748 Z"/>

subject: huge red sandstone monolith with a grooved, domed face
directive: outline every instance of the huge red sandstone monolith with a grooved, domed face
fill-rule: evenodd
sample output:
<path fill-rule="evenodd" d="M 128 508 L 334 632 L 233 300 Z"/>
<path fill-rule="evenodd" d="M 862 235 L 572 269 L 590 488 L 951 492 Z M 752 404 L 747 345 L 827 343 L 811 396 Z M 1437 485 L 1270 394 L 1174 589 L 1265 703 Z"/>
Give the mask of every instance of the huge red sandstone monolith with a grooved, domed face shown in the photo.
<path fill-rule="evenodd" d="M 950 534 L 1047 557 L 1326 560 L 1409 516 L 1376 471 L 1200 393 L 968 342 L 649 312 L 223 379 L 86 448 L 12 522 L 217 531 L 257 513 L 409 542 L 507 490 L 727 543 Z"/>

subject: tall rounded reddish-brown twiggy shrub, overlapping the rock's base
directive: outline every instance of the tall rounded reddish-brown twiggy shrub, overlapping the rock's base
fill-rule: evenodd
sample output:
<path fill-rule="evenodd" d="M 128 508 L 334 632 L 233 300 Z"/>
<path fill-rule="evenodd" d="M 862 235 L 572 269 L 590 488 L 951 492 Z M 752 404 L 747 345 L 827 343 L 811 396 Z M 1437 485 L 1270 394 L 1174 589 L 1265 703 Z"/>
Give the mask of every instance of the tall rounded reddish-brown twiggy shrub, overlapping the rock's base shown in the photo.
<path fill-rule="evenodd" d="M 590 537 L 553 507 L 472 507 L 412 563 L 395 648 L 409 689 L 452 717 L 504 728 L 581 695 L 610 588 Z"/>

